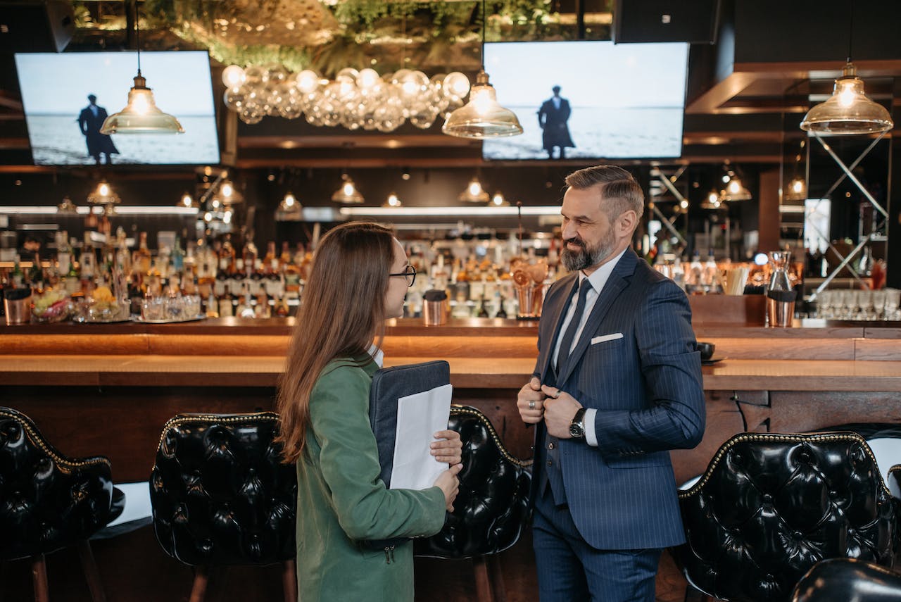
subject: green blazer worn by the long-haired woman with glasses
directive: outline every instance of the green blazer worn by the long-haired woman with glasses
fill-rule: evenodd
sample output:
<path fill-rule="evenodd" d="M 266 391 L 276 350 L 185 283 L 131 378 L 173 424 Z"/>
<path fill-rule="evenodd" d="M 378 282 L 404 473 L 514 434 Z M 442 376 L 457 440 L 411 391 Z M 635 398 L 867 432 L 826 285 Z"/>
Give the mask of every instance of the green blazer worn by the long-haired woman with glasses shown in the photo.
<path fill-rule="evenodd" d="M 413 542 L 370 550 L 360 540 L 426 537 L 444 524 L 444 495 L 388 489 L 369 425 L 369 355 L 332 360 L 310 396 L 297 462 L 297 588 L 301 602 L 412 601 Z"/>

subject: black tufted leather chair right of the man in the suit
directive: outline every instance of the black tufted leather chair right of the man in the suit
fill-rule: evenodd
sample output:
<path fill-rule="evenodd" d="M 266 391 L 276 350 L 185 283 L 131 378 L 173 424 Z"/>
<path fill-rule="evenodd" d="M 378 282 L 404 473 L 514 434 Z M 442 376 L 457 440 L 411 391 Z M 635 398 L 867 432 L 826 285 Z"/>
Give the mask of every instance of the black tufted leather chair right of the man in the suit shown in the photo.
<path fill-rule="evenodd" d="M 788 600 L 817 561 L 894 560 L 895 500 L 856 433 L 735 435 L 679 504 L 677 558 L 707 596 Z"/>

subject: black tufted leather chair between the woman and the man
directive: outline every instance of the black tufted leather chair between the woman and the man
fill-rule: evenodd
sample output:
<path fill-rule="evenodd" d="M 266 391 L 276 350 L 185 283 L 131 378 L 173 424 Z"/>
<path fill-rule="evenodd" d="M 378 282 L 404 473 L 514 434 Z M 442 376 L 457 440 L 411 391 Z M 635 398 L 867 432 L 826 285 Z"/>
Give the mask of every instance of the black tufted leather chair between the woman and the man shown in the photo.
<path fill-rule="evenodd" d="M 448 425 L 460 433 L 463 442 L 460 493 L 444 527 L 430 538 L 416 540 L 415 553 L 433 558 L 472 558 L 479 599 L 490 599 L 492 587 L 503 599 L 496 554 L 513 546 L 523 532 L 532 462 L 518 460 L 507 452 L 487 416 L 474 407 L 451 406 Z"/>

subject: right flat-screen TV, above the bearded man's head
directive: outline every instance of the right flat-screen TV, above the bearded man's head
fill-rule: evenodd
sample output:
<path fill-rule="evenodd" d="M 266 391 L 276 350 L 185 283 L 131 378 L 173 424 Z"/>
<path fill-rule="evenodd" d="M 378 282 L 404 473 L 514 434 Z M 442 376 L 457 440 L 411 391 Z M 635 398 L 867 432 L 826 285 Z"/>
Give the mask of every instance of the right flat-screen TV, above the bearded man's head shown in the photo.
<path fill-rule="evenodd" d="M 687 67 L 687 43 L 488 42 L 497 101 L 524 132 L 484 141 L 482 156 L 560 159 L 562 146 L 566 159 L 678 157 Z"/>

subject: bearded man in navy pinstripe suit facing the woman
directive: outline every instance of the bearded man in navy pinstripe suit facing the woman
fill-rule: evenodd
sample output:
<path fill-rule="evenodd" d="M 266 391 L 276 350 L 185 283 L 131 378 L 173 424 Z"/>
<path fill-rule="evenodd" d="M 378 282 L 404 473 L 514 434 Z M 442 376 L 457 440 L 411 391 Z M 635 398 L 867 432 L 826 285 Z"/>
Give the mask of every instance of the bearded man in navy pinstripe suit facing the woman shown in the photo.
<path fill-rule="evenodd" d="M 538 362 L 520 390 L 536 425 L 532 537 L 542 602 L 653 602 L 662 548 L 685 541 L 669 450 L 704 434 L 685 293 L 631 249 L 644 196 L 625 169 L 566 178 L 561 260 Z"/>

